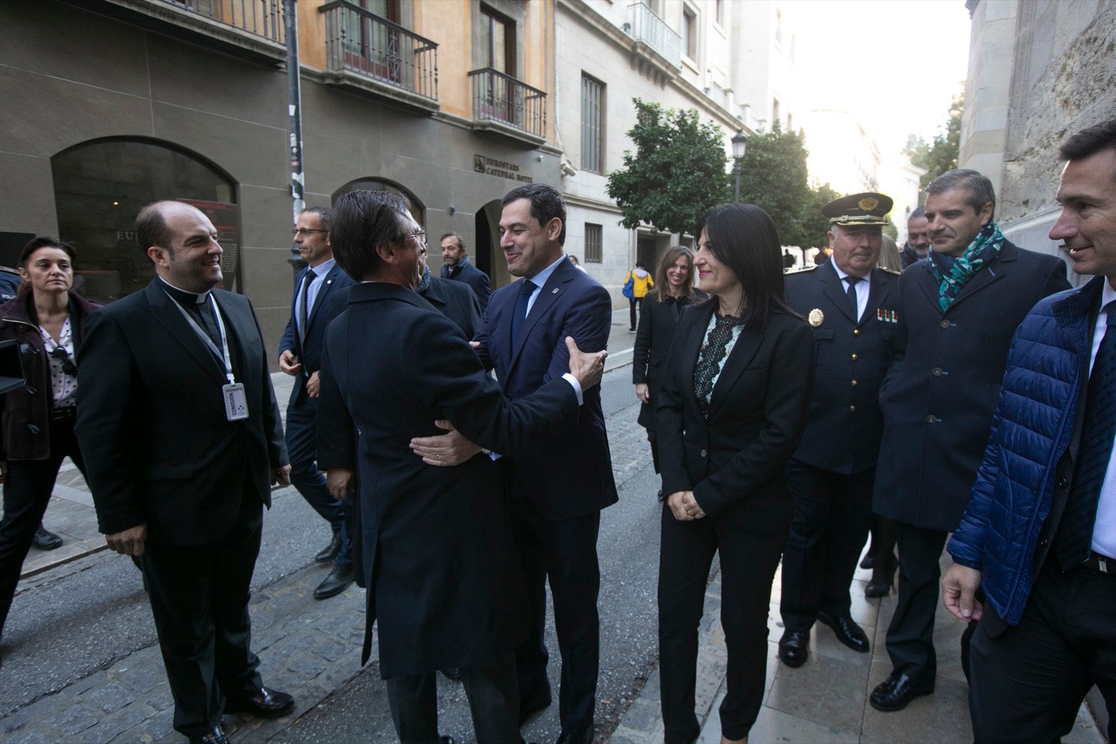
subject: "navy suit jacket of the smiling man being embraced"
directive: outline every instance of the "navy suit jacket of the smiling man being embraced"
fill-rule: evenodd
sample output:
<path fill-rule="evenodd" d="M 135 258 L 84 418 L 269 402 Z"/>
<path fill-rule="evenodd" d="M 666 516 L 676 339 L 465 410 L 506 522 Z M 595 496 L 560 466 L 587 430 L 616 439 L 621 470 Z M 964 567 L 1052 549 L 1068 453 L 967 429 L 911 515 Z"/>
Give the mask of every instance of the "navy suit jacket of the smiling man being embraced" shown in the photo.
<path fill-rule="evenodd" d="M 496 369 L 500 387 L 520 400 L 569 371 L 566 337 L 583 351 L 607 346 L 612 298 L 589 274 L 562 260 L 539 290 L 512 342 L 511 317 L 520 282 L 497 290 L 474 340 L 485 368 Z M 617 501 L 612 456 L 600 409 L 600 386 L 585 392 L 577 421 L 564 424 L 514 457 L 520 490 L 550 520 L 583 516 Z"/>

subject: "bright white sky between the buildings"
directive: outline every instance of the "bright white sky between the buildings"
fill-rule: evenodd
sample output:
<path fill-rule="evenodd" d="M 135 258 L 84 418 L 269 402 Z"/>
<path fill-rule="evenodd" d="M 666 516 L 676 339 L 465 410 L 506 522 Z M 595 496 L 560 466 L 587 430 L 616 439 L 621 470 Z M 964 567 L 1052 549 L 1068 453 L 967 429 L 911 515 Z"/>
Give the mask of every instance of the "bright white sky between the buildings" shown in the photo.
<path fill-rule="evenodd" d="M 796 62 L 811 108 L 859 115 L 884 152 L 907 135 L 927 142 L 964 89 L 969 11 L 964 0 L 787 0 Z"/>

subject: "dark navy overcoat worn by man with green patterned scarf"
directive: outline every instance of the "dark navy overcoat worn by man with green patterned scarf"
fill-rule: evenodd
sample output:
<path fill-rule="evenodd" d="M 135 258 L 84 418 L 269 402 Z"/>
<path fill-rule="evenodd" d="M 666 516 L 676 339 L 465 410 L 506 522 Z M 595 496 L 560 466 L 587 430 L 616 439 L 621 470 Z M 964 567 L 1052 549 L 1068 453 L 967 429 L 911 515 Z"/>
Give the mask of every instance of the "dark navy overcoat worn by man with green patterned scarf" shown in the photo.
<path fill-rule="evenodd" d="M 927 261 L 899 277 L 873 511 L 950 532 L 988 444 L 1011 337 L 1036 302 L 1069 282 L 1061 260 L 1006 241 L 949 310 L 939 306 L 937 287 Z"/>

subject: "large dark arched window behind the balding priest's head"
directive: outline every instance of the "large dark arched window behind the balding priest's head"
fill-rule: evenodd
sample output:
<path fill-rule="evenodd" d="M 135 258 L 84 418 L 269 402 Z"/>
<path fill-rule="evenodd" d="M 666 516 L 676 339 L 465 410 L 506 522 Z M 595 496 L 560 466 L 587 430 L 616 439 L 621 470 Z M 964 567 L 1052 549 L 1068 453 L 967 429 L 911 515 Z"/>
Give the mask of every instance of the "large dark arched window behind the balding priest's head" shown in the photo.
<path fill-rule="evenodd" d="M 205 212 L 224 249 L 222 287 L 240 291 L 237 182 L 195 153 L 158 139 L 109 137 L 50 158 L 58 233 L 77 248 L 77 289 L 110 302 L 143 289 L 155 276 L 136 243 L 135 218 L 158 200 L 181 200 Z"/>

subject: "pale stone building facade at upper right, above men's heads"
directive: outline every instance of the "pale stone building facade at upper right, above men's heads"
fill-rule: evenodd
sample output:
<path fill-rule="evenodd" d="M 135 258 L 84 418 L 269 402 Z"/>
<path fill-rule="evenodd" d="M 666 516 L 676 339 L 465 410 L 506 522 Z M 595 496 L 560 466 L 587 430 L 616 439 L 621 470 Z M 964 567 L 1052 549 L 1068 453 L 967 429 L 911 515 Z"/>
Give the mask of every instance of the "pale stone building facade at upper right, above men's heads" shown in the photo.
<path fill-rule="evenodd" d="M 1116 112 L 1116 1 L 965 6 L 972 33 L 959 164 L 992 180 L 1010 240 L 1060 255 L 1047 236 L 1060 211 L 1057 151 Z"/>

